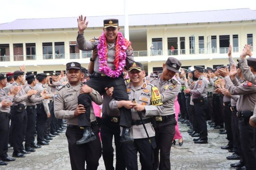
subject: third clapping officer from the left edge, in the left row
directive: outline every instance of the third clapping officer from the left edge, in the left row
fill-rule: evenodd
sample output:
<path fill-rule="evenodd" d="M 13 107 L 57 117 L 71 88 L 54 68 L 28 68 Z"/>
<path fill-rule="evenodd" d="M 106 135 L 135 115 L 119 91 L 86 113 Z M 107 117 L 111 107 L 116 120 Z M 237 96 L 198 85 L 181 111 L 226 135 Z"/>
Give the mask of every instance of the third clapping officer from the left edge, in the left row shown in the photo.
<path fill-rule="evenodd" d="M 28 93 L 29 90 L 33 90 L 34 87 L 37 85 L 37 79 L 34 74 L 31 74 L 26 77 L 28 86 L 25 88 L 25 92 Z M 27 98 L 27 117 L 28 117 L 28 123 L 27 123 L 27 131 L 26 131 L 26 138 L 25 138 L 25 150 L 28 152 L 35 152 L 35 150 L 32 148 L 34 147 L 34 133 L 35 133 L 35 120 L 37 118 L 37 110 L 36 110 L 36 103 L 43 101 L 44 99 L 49 99 L 49 96 L 45 95 L 41 92 L 41 96 L 37 96 L 35 98 L 35 95 L 29 96 Z M 39 148 L 38 146 L 34 148 Z"/>

